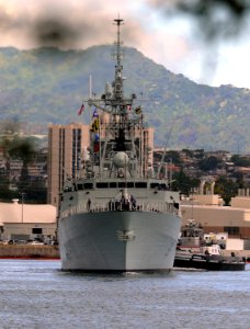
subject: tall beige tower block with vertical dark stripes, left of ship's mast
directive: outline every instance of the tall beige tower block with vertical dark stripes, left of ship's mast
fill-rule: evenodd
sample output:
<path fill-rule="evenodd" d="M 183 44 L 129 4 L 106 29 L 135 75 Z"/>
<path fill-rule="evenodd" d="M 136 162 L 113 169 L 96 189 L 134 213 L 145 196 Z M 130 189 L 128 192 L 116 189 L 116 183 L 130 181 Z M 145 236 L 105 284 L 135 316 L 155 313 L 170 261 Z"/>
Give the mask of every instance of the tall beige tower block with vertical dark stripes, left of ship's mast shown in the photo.
<path fill-rule="evenodd" d="M 58 205 L 67 177 L 76 177 L 83 148 L 89 146 L 89 126 L 81 123 L 52 125 L 48 128 L 47 202 Z"/>

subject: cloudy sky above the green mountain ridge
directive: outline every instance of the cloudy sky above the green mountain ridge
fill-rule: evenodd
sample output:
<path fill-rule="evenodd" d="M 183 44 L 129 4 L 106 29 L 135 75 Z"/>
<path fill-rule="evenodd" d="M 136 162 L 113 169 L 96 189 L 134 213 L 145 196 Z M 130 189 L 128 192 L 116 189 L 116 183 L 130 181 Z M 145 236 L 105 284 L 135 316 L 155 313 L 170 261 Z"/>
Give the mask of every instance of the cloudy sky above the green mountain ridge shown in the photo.
<path fill-rule="evenodd" d="M 112 20 L 120 15 L 124 45 L 168 70 L 197 83 L 250 89 L 250 20 L 239 34 L 215 42 L 204 37 L 195 18 L 167 11 L 166 3 L 174 1 L 0 0 L 0 47 L 86 49 L 112 44 Z"/>

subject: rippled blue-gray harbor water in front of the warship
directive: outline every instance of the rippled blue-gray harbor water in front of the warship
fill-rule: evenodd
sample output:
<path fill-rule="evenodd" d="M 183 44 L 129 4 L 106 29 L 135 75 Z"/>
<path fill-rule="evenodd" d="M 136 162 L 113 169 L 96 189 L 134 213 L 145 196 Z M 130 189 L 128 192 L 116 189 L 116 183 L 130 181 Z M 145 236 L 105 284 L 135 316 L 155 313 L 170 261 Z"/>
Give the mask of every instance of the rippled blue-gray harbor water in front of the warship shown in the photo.
<path fill-rule="evenodd" d="M 73 274 L 60 261 L 0 260 L 0 328 L 249 328 L 246 271 Z"/>

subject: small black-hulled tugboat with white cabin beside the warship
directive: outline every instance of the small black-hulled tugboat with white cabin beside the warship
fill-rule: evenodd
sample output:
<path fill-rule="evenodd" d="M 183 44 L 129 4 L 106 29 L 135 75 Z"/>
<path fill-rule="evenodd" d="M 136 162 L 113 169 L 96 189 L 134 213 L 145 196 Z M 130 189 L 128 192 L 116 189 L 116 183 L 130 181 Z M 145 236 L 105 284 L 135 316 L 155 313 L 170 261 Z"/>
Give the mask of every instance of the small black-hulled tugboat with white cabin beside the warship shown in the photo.
<path fill-rule="evenodd" d="M 218 243 L 204 240 L 204 230 L 194 220 L 188 222 L 181 230 L 177 246 L 174 268 L 189 268 L 209 271 L 243 271 L 246 260 L 231 256 L 223 256 Z"/>

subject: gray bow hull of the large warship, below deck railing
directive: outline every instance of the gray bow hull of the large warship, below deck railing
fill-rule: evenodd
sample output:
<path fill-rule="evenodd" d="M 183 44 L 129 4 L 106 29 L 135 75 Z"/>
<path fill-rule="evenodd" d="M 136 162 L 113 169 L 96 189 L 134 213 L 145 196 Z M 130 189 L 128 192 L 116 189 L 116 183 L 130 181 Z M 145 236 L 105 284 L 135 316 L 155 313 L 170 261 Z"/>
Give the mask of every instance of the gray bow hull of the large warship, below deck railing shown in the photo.
<path fill-rule="evenodd" d="M 65 271 L 168 271 L 173 268 L 181 219 L 150 212 L 80 213 L 60 218 Z"/>

